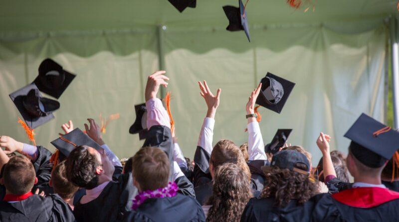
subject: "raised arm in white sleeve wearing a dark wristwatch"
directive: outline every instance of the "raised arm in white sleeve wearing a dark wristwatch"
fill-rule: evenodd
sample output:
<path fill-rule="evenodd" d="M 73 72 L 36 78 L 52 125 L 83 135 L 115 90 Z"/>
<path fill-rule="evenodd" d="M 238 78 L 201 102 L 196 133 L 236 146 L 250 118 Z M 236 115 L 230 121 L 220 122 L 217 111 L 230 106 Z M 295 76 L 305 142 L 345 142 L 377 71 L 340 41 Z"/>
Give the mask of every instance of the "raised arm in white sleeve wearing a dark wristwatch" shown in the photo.
<path fill-rule="evenodd" d="M 254 114 L 256 98 L 259 95 L 262 83 L 251 92 L 248 103 L 246 104 L 246 114 Z M 264 150 L 262 134 L 260 133 L 259 123 L 255 117 L 248 117 L 248 160 L 267 160 Z"/>

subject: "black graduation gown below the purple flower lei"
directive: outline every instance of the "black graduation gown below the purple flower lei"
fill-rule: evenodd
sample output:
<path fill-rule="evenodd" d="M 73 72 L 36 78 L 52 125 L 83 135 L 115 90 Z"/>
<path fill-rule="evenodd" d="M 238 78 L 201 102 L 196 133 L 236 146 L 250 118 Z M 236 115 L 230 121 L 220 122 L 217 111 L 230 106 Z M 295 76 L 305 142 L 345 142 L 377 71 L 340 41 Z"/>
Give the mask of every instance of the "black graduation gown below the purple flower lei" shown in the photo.
<path fill-rule="evenodd" d="M 171 198 L 147 199 L 125 222 L 204 222 L 198 202 L 181 194 Z"/>

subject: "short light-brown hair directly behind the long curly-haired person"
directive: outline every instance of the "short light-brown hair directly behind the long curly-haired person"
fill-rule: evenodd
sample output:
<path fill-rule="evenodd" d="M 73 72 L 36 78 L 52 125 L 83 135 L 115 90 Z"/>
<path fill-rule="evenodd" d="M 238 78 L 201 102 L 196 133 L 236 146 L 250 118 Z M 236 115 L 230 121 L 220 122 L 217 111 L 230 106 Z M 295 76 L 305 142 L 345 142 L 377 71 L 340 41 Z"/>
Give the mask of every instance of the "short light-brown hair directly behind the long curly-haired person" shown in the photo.
<path fill-rule="evenodd" d="M 220 140 L 216 143 L 210 154 L 209 163 L 213 165 L 215 171 L 218 166 L 224 163 L 237 164 L 248 176 L 248 180 L 250 180 L 251 173 L 249 172 L 249 167 L 240 149 L 231 140 Z"/>

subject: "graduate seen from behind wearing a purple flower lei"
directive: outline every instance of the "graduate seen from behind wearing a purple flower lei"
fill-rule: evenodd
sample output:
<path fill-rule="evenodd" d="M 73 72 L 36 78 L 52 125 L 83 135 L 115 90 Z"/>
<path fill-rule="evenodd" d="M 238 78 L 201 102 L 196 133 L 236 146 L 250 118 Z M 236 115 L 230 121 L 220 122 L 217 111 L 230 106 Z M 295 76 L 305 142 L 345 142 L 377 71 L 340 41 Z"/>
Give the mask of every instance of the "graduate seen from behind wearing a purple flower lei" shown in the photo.
<path fill-rule="evenodd" d="M 165 152 L 159 148 L 142 148 L 132 162 L 132 174 L 139 194 L 125 221 L 205 221 L 200 204 L 194 198 L 177 193 L 175 183 L 168 183 L 170 165 Z"/>

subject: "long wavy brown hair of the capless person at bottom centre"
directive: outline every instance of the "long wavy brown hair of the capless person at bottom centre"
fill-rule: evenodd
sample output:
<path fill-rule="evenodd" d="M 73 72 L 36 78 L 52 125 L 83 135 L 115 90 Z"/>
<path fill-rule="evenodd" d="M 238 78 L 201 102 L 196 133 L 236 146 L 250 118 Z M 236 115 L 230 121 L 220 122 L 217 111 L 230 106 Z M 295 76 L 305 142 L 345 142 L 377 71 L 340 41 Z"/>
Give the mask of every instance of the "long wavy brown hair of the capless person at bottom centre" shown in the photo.
<path fill-rule="evenodd" d="M 238 222 L 252 191 L 247 175 L 241 167 L 225 163 L 216 169 L 213 183 L 213 194 L 208 201 L 211 205 L 206 218 L 207 222 Z"/>

